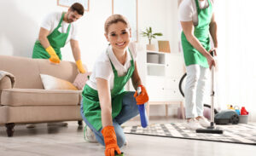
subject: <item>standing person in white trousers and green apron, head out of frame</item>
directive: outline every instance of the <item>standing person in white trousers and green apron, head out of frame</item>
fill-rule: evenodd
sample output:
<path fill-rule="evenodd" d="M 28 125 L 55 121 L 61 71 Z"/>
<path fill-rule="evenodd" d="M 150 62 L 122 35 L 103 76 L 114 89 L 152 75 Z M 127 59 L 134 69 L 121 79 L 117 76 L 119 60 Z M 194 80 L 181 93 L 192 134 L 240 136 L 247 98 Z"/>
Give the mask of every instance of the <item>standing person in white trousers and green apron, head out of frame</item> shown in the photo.
<path fill-rule="evenodd" d="M 203 100 L 209 68 L 215 66 L 210 55 L 218 47 L 217 24 L 213 13 L 213 0 L 183 0 L 179 5 L 183 56 L 187 71 L 185 106 L 188 129 L 210 126 L 203 117 Z M 214 43 L 211 49 L 210 35 Z"/>

